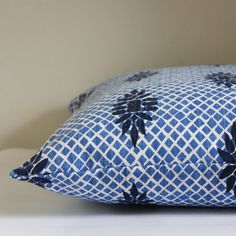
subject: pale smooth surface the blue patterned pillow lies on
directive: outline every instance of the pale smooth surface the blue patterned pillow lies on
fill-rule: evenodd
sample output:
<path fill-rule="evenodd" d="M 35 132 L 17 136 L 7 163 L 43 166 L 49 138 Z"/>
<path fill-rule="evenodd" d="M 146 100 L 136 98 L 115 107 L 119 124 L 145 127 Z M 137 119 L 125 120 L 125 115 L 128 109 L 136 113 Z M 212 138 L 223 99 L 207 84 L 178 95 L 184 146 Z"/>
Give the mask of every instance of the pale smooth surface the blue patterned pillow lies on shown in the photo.
<path fill-rule="evenodd" d="M 0 235 L 223 236 L 236 230 L 236 209 L 113 206 L 10 179 L 10 170 L 34 153 L 0 152 Z"/>

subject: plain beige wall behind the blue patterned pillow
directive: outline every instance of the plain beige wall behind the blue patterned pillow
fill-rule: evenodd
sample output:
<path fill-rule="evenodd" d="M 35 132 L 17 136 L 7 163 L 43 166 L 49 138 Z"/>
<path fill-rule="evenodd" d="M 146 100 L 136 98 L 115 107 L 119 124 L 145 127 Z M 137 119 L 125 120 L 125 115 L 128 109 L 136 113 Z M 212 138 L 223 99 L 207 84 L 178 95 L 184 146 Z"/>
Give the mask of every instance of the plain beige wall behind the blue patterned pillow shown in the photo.
<path fill-rule="evenodd" d="M 236 63 L 235 0 L 0 0 L 0 149 L 38 147 L 68 101 L 142 68 Z"/>

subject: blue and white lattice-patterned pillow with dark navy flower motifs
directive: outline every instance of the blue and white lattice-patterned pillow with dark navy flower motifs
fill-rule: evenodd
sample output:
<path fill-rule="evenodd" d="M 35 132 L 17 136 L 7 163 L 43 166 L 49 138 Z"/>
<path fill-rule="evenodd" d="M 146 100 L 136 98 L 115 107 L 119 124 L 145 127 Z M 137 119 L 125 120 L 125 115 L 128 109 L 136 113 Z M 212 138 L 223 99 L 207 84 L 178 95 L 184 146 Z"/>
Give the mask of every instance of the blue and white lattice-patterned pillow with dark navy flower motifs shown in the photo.
<path fill-rule="evenodd" d="M 236 65 L 119 76 L 78 96 L 11 172 L 61 194 L 118 204 L 236 206 Z"/>

